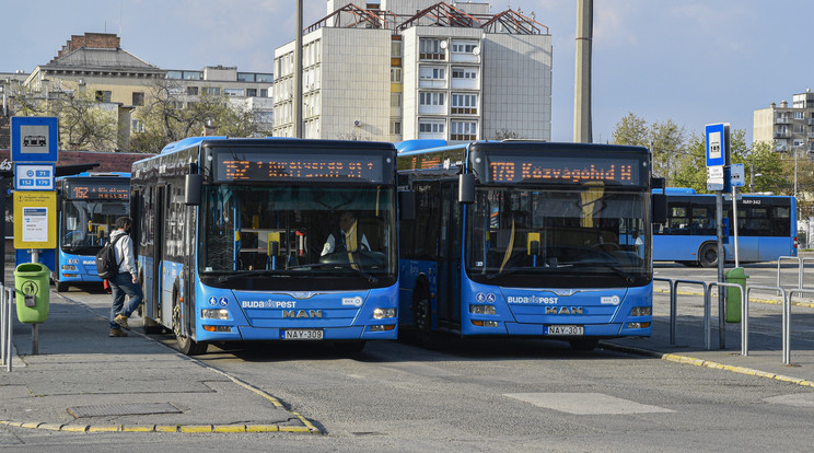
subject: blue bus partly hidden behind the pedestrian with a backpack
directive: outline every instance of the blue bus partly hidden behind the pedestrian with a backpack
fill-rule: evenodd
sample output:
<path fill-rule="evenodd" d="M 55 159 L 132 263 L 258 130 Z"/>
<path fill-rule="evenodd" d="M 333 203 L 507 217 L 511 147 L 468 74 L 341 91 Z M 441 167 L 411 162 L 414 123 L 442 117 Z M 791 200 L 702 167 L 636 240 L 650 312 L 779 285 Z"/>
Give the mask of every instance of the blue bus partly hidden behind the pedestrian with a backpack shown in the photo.
<path fill-rule="evenodd" d="M 51 280 L 58 292 L 70 284 L 101 283 L 96 253 L 130 208 L 129 173 L 80 173 L 60 176 L 57 188 L 57 267 Z"/>

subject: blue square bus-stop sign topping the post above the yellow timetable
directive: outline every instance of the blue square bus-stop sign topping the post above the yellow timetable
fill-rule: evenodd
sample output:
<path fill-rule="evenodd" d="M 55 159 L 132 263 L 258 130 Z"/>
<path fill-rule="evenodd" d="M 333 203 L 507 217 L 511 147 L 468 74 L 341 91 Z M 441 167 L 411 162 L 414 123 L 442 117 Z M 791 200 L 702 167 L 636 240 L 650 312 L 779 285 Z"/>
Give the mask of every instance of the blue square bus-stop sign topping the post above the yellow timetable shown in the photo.
<path fill-rule="evenodd" d="M 57 162 L 58 149 L 59 120 L 56 117 L 11 117 L 12 162 Z"/>

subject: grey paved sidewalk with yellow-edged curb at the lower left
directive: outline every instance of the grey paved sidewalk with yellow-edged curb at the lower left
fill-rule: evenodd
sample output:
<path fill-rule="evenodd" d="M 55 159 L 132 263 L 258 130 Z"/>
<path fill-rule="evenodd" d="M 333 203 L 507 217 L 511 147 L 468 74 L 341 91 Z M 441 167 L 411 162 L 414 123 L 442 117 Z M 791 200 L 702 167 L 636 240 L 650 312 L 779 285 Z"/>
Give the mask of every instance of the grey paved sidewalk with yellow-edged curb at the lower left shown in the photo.
<path fill-rule="evenodd" d="M 135 324 L 139 320 L 135 320 Z M 306 432 L 319 430 L 274 396 L 130 330 L 108 337 L 108 321 L 50 293 L 48 320 L 14 314 L 21 356 L 0 369 L 0 425 L 60 431 Z M 14 351 L 12 351 L 14 353 Z"/>

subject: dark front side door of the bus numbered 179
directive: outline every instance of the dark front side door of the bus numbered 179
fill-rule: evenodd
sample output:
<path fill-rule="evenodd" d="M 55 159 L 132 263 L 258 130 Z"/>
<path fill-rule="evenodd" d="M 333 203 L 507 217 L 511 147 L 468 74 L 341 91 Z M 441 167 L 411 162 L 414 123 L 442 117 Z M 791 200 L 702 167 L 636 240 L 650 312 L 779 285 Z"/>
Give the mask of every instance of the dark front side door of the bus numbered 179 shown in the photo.
<path fill-rule="evenodd" d="M 441 259 L 438 274 L 439 327 L 461 328 L 461 241 L 463 234 L 457 179 L 441 184 Z"/>

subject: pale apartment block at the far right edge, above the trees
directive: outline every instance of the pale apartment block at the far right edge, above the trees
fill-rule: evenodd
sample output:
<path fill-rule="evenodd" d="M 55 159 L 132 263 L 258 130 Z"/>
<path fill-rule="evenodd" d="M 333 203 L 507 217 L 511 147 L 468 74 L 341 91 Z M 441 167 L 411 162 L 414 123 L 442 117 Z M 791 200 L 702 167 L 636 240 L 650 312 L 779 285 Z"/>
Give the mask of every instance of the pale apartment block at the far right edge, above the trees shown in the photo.
<path fill-rule="evenodd" d="M 767 141 L 775 150 L 782 152 L 814 152 L 814 93 L 792 95 L 792 104 L 787 101 L 778 106 L 771 103 L 768 108 L 754 112 L 752 135 L 755 141 Z"/>

